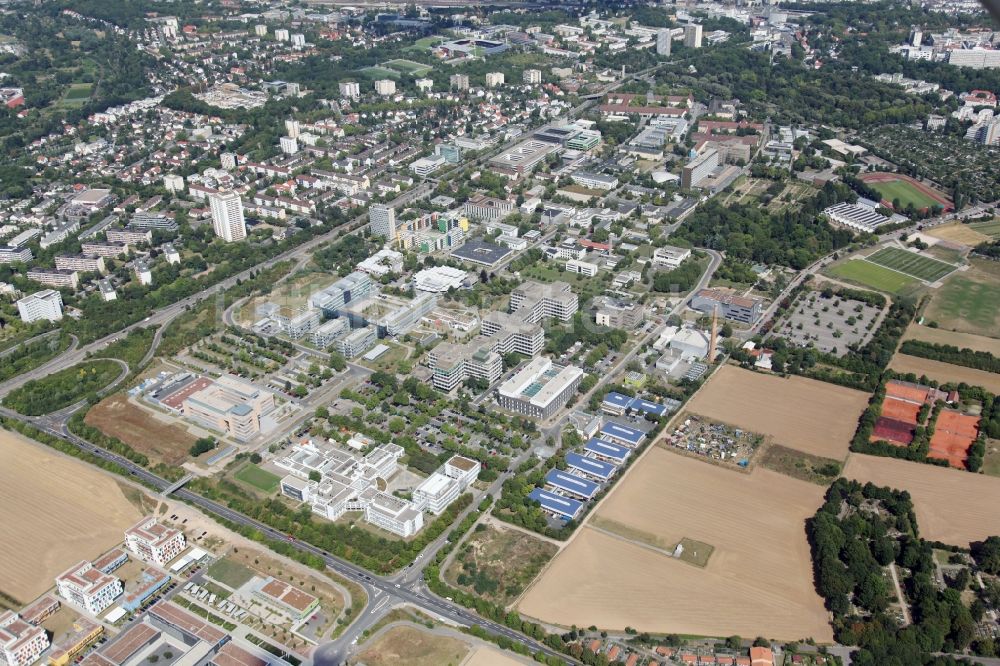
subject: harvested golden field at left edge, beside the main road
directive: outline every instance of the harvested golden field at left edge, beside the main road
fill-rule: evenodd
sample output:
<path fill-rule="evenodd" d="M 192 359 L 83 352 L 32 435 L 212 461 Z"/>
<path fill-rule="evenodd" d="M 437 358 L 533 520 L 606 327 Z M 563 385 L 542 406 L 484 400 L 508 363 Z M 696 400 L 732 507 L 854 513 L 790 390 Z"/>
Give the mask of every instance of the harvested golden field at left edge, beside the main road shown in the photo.
<path fill-rule="evenodd" d="M 139 519 L 114 479 L 0 429 L 0 589 L 28 602 Z"/>

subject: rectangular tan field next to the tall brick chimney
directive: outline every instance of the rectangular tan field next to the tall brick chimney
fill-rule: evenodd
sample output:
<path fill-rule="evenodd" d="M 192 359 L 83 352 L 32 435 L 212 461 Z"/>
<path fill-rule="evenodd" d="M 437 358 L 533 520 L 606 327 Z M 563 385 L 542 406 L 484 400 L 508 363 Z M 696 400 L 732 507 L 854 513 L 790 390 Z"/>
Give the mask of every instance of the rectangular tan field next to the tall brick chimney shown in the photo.
<path fill-rule="evenodd" d="M 868 395 L 861 391 L 727 365 L 698 391 L 688 410 L 770 435 L 804 453 L 843 460 L 867 406 Z"/>

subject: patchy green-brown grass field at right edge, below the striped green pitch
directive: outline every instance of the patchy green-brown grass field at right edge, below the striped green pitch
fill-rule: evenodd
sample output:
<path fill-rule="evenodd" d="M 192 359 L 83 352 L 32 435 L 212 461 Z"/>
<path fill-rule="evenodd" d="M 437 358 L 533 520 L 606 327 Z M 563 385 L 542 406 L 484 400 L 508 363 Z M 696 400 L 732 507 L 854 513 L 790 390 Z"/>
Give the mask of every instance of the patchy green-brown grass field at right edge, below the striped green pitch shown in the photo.
<path fill-rule="evenodd" d="M 948 278 L 924 312 L 941 328 L 1000 337 L 1000 265 L 973 261 L 972 270 Z"/>

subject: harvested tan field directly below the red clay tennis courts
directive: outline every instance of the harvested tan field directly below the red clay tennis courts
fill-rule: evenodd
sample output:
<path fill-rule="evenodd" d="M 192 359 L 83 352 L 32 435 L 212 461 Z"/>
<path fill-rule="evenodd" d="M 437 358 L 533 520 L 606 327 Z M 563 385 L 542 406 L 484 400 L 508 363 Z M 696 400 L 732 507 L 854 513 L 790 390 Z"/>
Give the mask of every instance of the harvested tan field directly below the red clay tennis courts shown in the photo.
<path fill-rule="evenodd" d="M 906 490 L 913 497 L 920 536 L 968 546 L 1000 534 L 1000 479 L 908 460 L 852 453 L 844 476 Z"/>

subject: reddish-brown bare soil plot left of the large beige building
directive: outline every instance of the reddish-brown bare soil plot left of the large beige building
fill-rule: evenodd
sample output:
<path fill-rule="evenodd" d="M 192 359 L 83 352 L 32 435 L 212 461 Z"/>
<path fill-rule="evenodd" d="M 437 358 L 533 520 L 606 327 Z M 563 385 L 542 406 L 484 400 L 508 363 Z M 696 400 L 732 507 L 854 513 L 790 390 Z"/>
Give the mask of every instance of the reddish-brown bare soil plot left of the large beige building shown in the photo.
<path fill-rule="evenodd" d="M 156 418 L 120 393 L 95 405 L 84 421 L 153 460 L 172 465 L 187 458 L 197 439 L 186 428 Z"/>

